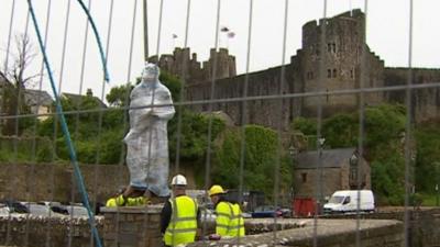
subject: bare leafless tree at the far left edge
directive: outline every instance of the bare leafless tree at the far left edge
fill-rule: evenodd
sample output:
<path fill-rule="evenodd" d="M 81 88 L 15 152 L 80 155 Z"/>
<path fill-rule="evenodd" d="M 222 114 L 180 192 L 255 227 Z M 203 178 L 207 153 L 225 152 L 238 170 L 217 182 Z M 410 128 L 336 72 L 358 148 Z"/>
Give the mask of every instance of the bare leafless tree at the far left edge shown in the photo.
<path fill-rule="evenodd" d="M 30 65 L 36 56 L 28 35 L 15 36 L 15 52 L 7 54 L 12 57 L 12 65 L 10 66 L 8 63 L 4 68 L 0 68 L 0 79 L 4 81 L 3 92 L 0 96 L 2 99 L 0 108 L 7 115 L 30 112 L 24 102 L 24 90 L 34 78 L 41 76 L 41 74 L 29 75 L 28 72 Z M 8 119 L 2 128 L 2 134 L 15 135 L 16 121 L 18 119 Z M 22 123 L 24 122 L 22 121 Z"/>

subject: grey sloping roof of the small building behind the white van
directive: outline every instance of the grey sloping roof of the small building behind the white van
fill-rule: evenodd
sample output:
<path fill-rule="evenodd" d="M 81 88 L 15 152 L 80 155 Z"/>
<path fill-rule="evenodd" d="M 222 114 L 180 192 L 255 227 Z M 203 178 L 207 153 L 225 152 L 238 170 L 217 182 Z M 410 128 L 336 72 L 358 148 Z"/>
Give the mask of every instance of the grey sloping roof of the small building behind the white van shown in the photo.
<path fill-rule="evenodd" d="M 339 168 L 345 160 L 348 161 L 353 153 L 356 150 L 354 147 L 339 148 L 339 149 L 323 149 L 321 153 L 321 167 L 322 168 Z M 305 151 L 297 155 L 297 168 L 315 169 L 318 166 L 318 151 Z"/>

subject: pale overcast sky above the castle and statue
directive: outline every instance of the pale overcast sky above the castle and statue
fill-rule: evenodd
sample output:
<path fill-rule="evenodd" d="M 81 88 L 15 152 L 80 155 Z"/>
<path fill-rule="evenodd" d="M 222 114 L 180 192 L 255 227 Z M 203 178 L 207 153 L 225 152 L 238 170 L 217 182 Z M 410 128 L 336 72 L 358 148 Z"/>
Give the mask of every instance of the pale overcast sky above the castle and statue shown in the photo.
<path fill-rule="evenodd" d="M 96 38 L 88 31 L 87 20 L 76 0 L 32 1 L 42 34 L 48 21 L 46 52 L 52 66 L 55 83 L 62 81 L 61 91 L 85 93 L 91 88 L 101 98 L 111 87 L 133 81 L 144 65 L 142 0 L 114 0 L 110 35 L 109 13 L 111 0 L 84 0 L 91 4 L 90 13 L 97 24 L 103 49 L 108 48 L 109 83 L 102 83 L 102 67 Z M 252 22 L 250 10 L 252 2 Z M 220 0 L 220 29 L 227 26 L 235 35 L 228 38 L 219 33 L 219 46 L 229 48 L 235 56 L 238 74 L 263 70 L 289 63 L 290 56 L 301 48 L 301 26 L 324 15 L 331 18 L 351 9 L 365 11 L 364 0 L 289 0 L 287 7 L 286 54 L 283 58 L 285 0 Z M 0 0 L 0 65 L 4 66 L 9 41 L 9 26 L 13 0 Z M 47 19 L 48 3 L 51 7 Z M 62 70 L 62 54 L 67 7 L 70 7 L 66 54 Z M 324 11 L 324 5 L 327 5 Z M 170 54 L 174 47 L 185 44 L 186 11 L 188 0 L 163 0 L 162 27 L 158 29 L 161 0 L 147 0 L 148 53 Z M 409 65 L 409 10 L 410 0 L 370 0 L 366 3 L 366 41 L 372 52 L 385 60 L 388 67 Z M 208 59 L 209 49 L 216 46 L 217 0 L 191 0 L 188 25 L 188 47 L 197 53 L 198 60 Z M 439 0 L 413 1 L 413 53 L 411 66 L 440 68 L 440 22 L 435 16 L 440 10 Z M 11 49 L 14 36 L 25 33 L 28 1 L 15 0 L 13 11 Z M 134 19 L 134 38 L 131 52 L 131 30 Z M 158 32 L 161 31 L 161 32 Z M 29 36 L 36 55 L 28 69 L 35 75 L 42 66 L 35 30 L 29 25 Z M 173 38 L 173 34 L 177 37 Z M 160 38 L 157 38 L 160 37 Z M 250 40 L 250 46 L 249 44 Z M 85 49 L 85 44 L 86 49 Z M 107 45 L 109 44 L 109 45 Z M 108 46 L 108 47 L 107 47 Z M 86 55 L 82 56 L 82 50 Z M 249 64 L 248 64 L 249 53 Z M 130 54 L 132 57 L 130 59 Z M 11 52 L 9 61 L 13 60 Z M 84 61 L 84 69 L 82 68 Z M 82 71 L 82 72 L 81 72 Z M 62 75 L 62 76 L 61 76 Z M 82 76 L 81 76 L 82 75 Z M 40 80 L 29 87 L 38 88 Z M 47 74 L 42 78 L 42 88 L 52 94 Z M 59 88 L 57 86 L 57 90 Z"/>

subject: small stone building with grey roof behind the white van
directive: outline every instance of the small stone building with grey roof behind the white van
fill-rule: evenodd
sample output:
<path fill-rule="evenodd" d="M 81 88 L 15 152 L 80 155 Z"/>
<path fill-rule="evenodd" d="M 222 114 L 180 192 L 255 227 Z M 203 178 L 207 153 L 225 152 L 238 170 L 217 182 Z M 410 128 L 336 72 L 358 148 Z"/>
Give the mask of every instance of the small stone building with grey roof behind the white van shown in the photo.
<path fill-rule="evenodd" d="M 302 151 L 296 161 L 295 198 L 323 199 L 337 190 L 355 190 L 358 175 L 359 189 L 371 189 L 370 165 L 355 148 Z"/>

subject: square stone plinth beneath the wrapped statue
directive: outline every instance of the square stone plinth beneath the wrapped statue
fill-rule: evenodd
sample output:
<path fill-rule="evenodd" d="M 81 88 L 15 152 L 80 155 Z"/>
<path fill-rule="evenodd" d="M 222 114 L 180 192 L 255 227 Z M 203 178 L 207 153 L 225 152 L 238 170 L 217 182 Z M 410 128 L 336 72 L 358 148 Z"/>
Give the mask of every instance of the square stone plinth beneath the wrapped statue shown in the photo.
<path fill-rule="evenodd" d="M 106 247 L 161 247 L 163 205 L 101 207 Z"/>

